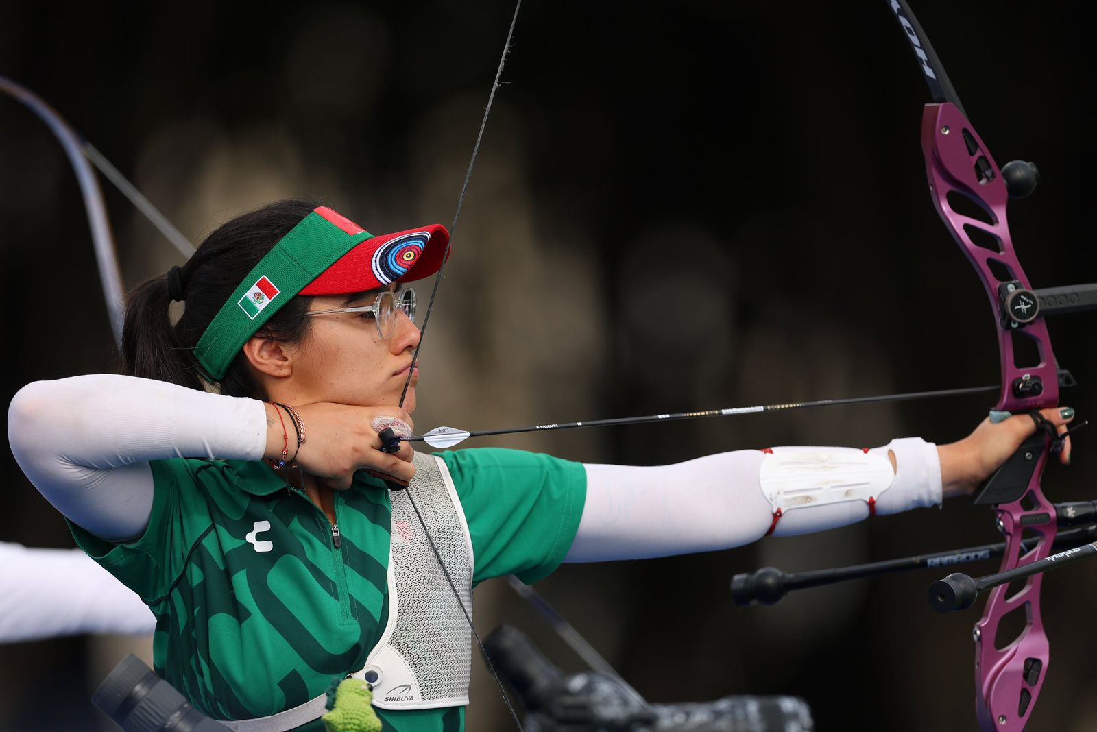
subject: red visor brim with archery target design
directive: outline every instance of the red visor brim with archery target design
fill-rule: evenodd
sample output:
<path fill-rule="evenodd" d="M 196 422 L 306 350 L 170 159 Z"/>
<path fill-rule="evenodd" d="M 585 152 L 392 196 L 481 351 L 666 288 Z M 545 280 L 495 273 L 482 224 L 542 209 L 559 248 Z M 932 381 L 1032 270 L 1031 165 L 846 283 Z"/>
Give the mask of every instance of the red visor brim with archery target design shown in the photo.
<path fill-rule="evenodd" d="M 316 211 L 348 233 L 362 231 L 361 227 L 331 209 L 317 208 Z M 348 226 L 357 227 L 357 231 L 348 231 Z M 394 282 L 429 277 L 442 266 L 449 241 L 450 232 L 441 224 L 366 239 L 339 258 L 301 294 L 349 295 L 387 287 Z"/>

